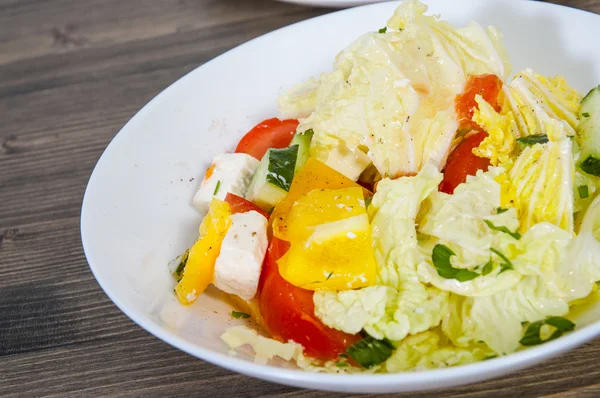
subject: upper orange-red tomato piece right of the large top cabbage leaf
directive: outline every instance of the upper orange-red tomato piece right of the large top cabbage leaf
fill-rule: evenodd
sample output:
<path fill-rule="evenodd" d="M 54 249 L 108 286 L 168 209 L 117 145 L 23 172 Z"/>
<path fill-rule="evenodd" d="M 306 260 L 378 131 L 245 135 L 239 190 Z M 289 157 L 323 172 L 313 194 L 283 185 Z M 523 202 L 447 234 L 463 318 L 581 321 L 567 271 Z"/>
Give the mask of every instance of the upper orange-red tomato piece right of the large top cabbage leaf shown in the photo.
<path fill-rule="evenodd" d="M 497 112 L 500 112 L 498 104 L 498 94 L 502 89 L 502 81 L 498 76 L 477 75 L 470 76 L 465 86 L 465 91 L 456 96 L 455 109 L 458 116 L 458 125 L 460 129 L 473 128 L 478 130 L 480 127 L 473 121 L 473 111 L 478 109 L 475 96 L 477 94 L 486 100 Z"/>

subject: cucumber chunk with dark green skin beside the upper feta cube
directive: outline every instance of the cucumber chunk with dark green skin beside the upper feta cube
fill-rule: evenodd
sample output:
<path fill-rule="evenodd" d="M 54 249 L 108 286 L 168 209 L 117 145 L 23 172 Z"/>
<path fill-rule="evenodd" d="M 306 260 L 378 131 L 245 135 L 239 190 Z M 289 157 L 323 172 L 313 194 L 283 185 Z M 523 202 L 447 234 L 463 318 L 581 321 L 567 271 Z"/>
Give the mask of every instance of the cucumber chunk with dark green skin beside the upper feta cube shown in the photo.
<path fill-rule="evenodd" d="M 298 148 L 269 149 L 252 175 L 246 199 L 266 211 L 281 202 L 292 185 Z"/>

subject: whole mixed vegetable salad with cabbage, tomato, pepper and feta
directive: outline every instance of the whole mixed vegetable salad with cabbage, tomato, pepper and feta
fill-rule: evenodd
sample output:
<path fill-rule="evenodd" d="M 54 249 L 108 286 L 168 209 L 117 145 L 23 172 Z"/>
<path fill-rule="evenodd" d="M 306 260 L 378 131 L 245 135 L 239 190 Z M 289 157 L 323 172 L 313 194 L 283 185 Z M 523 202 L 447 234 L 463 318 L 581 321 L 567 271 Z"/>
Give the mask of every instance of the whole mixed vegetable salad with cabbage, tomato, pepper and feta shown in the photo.
<path fill-rule="evenodd" d="M 404 1 L 215 156 L 171 264 L 257 361 L 399 372 L 559 338 L 597 300 L 600 86 L 511 74 L 502 34 Z M 513 76 L 513 77 L 511 77 Z"/>

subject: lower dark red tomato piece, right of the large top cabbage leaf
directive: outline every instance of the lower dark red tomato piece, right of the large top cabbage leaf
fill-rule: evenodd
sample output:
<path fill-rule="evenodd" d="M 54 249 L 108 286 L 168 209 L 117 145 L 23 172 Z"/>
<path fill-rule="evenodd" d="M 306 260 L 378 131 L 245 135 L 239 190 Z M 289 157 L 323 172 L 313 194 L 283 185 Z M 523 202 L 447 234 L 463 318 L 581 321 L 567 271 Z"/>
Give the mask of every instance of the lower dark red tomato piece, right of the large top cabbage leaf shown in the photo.
<path fill-rule="evenodd" d="M 441 192 L 452 194 L 454 189 L 467 180 L 467 176 L 477 174 L 477 170 L 487 170 L 490 167 L 488 158 L 480 158 L 473 153 L 487 133 L 480 131 L 467 136 L 448 157 L 444 169 L 444 179 L 440 183 Z"/>

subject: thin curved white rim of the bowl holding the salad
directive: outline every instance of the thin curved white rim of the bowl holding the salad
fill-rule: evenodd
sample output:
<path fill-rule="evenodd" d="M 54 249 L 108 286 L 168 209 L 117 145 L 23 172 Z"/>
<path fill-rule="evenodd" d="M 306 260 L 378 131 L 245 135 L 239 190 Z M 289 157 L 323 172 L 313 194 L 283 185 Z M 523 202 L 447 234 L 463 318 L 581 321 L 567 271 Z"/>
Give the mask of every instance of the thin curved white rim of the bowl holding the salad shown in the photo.
<path fill-rule="evenodd" d="M 427 3 L 427 0 L 423 0 Z M 477 3 L 479 4 L 480 0 L 462 0 L 462 3 Z M 504 3 L 505 0 L 484 0 L 487 3 Z M 509 0 L 513 2 L 520 3 L 535 3 L 536 7 L 548 7 L 548 8 L 562 8 L 569 10 L 570 12 L 576 12 L 580 14 L 590 14 L 594 17 L 599 18 L 600 15 L 594 14 L 589 11 L 572 8 L 566 5 L 560 4 L 552 4 L 545 2 L 537 2 L 535 0 Z M 463 385 L 469 384 L 477 381 L 482 381 L 490 378 L 494 378 L 499 374 L 508 374 L 511 372 L 515 372 L 517 370 L 526 368 L 531 366 L 534 363 L 547 360 L 549 358 L 555 357 L 565 351 L 571 350 L 578 346 L 585 344 L 586 342 L 592 340 L 593 338 L 600 335 L 600 320 L 594 321 L 589 325 L 581 329 L 576 329 L 556 340 L 544 343 L 542 345 L 531 347 L 524 349 L 522 351 L 517 351 L 511 354 L 507 354 L 504 356 L 499 356 L 496 358 L 492 358 L 485 361 L 474 362 L 466 365 L 457 365 L 451 366 L 447 368 L 437 368 L 437 369 L 428 369 L 428 370 L 417 370 L 417 371 L 403 371 L 397 373 L 315 373 L 304 371 L 302 369 L 290 369 L 290 368 L 282 368 L 278 366 L 268 365 L 268 364 L 259 364 L 253 363 L 248 360 L 240 359 L 235 356 L 219 353 L 216 351 L 212 351 L 207 348 L 203 348 L 201 346 L 195 345 L 194 343 L 181 338 L 174 333 L 164 329 L 160 325 L 157 325 L 152 320 L 147 318 L 142 313 L 136 311 L 133 308 L 125 305 L 119 297 L 113 292 L 110 288 L 107 280 L 103 280 L 99 274 L 99 264 L 100 262 L 96 261 L 88 248 L 91 245 L 90 237 L 88 235 L 88 216 L 89 213 L 89 196 L 90 196 L 90 187 L 97 183 L 98 180 L 98 170 L 103 167 L 103 163 L 109 161 L 108 158 L 111 157 L 112 152 L 115 151 L 115 148 L 118 145 L 120 139 L 124 137 L 124 131 L 128 130 L 131 124 L 135 123 L 138 119 L 143 119 L 146 114 L 152 111 L 152 109 L 156 106 L 160 106 L 161 102 L 165 98 L 165 93 L 172 89 L 174 86 L 179 86 L 185 84 L 186 80 L 190 77 L 191 74 L 198 73 L 198 71 L 203 68 L 208 67 L 218 59 L 227 54 L 236 51 L 242 47 L 246 47 L 252 44 L 259 43 L 264 40 L 268 40 L 272 35 L 280 34 L 282 31 L 297 29 L 299 25 L 304 24 L 308 21 L 314 21 L 321 18 L 332 18 L 332 16 L 339 17 L 340 15 L 352 12 L 362 12 L 365 8 L 368 7 L 392 7 L 397 6 L 401 0 L 396 1 L 383 1 L 373 4 L 366 4 L 359 7 L 347 8 L 343 10 L 334 11 L 332 13 L 327 13 L 324 15 L 316 16 L 313 18 L 308 18 L 279 29 L 273 30 L 261 36 L 258 36 L 254 39 L 246 41 L 238 46 L 235 46 L 222 54 L 214 57 L 213 59 L 197 66 L 190 72 L 184 74 L 179 79 L 171 83 L 168 87 L 164 88 L 160 93 L 158 93 L 154 98 L 152 98 L 148 103 L 146 103 L 135 115 L 119 130 L 119 132 L 112 138 L 110 143 L 107 145 L 102 155 L 98 159 L 94 169 L 90 175 L 90 179 L 85 189 L 85 194 L 82 200 L 82 209 L 81 209 L 81 217 L 80 217 L 80 231 L 81 231 L 81 241 L 83 246 L 83 251 L 88 262 L 88 265 L 94 275 L 96 281 L 104 291 L 104 293 L 110 298 L 110 300 L 131 320 L 133 320 L 137 325 L 141 326 L 144 330 L 146 330 L 151 335 L 157 337 L 163 342 L 178 348 L 189 355 L 192 355 L 196 358 L 209 362 L 211 364 L 235 371 L 237 373 L 245 374 L 252 377 L 257 377 L 261 379 L 268 379 L 272 381 L 276 381 L 282 384 L 292 385 L 292 386 L 304 386 L 306 383 L 311 383 L 314 388 L 321 389 L 329 389 L 336 391 L 346 391 L 348 388 L 355 388 L 355 392 L 367 391 L 365 389 L 369 388 L 378 388 L 378 391 L 397 391 L 397 390 L 386 390 L 382 389 L 382 385 L 386 385 L 390 388 L 403 386 L 406 387 L 402 391 L 425 391 L 429 389 L 440 388 L 440 386 L 455 386 L 455 385 Z M 276 371 L 276 372 L 274 372 Z M 465 379 L 468 381 L 464 381 Z M 435 381 L 435 385 L 427 386 L 428 382 Z M 343 384 L 343 388 L 335 388 L 336 385 Z M 362 388 L 363 390 L 360 390 Z"/>

